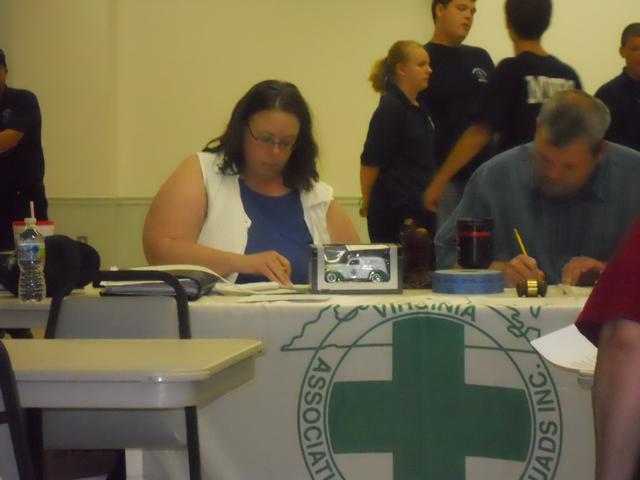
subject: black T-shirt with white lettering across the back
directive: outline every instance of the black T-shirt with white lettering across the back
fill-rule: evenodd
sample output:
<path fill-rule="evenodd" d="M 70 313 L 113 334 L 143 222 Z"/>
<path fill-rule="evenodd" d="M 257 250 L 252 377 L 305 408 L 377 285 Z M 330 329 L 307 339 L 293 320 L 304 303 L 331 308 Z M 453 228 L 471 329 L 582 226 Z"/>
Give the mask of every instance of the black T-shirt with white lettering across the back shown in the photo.
<path fill-rule="evenodd" d="M 533 140 L 542 104 L 574 88 L 582 84 L 569 65 L 552 55 L 522 52 L 496 67 L 477 123 L 499 134 L 499 152 L 522 145 Z"/>

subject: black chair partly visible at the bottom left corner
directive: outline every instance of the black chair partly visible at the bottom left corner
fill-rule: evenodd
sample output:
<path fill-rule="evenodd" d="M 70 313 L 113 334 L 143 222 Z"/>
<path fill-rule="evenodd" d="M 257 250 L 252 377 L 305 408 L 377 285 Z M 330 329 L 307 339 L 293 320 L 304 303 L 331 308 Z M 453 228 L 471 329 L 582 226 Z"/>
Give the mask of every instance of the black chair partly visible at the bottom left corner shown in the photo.
<path fill-rule="evenodd" d="M 28 340 L 24 340 L 28 341 Z M 25 415 L 7 350 L 0 342 L 0 478 L 34 480 Z"/>

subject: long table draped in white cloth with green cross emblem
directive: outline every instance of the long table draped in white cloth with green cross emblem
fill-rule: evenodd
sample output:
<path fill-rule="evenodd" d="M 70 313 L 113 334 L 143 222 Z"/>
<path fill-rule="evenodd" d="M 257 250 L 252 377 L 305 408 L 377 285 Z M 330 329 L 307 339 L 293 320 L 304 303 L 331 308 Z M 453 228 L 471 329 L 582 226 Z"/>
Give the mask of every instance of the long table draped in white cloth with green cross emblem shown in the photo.
<path fill-rule="evenodd" d="M 265 345 L 252 381 L 199 409 L 204 478 L 593 478 L 590 391 L 529 344 L 586 296 L 306 300 L 190 305 L 194 337 Z M 144 461 L 153 478 L 186 471 L 178 453 Z"/>

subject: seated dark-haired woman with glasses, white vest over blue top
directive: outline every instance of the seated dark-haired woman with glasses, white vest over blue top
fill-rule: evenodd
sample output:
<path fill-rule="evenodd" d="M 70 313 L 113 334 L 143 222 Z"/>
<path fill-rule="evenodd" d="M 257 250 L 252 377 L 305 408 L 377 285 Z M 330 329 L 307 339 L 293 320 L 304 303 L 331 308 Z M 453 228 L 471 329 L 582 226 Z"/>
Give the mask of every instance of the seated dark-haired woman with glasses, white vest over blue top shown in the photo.
<path fill-rule="evenodd" d="M 359 241 L 333 189 L 318 181 L 317 154 L 295 85 L 253 86 L 222 136 L 156 195 L 144 226 L 147 259 L 204 265 L 239 283 L 308 283 L 309 244 Z"/>

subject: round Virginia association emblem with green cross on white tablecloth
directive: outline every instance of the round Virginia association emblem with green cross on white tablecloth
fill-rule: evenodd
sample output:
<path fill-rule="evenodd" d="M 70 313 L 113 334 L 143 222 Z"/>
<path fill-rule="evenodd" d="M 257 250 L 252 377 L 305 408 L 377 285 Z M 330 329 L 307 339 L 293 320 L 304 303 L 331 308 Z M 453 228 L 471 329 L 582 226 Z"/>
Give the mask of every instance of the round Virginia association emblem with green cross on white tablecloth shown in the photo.
<path fill-rule="evenodd" d="M 473 305 L 443 302 L 319 311 L 281 347 L 311 352 L 297 409 L 310 478 L 368 478 L 356 458 L 384 454 L 389 480 L 484 479 L 503 468 L 514 480 L 553 480 L 562 411 L 522 333 L 536 318 L 504 307 L 479 321 Z"/>

